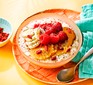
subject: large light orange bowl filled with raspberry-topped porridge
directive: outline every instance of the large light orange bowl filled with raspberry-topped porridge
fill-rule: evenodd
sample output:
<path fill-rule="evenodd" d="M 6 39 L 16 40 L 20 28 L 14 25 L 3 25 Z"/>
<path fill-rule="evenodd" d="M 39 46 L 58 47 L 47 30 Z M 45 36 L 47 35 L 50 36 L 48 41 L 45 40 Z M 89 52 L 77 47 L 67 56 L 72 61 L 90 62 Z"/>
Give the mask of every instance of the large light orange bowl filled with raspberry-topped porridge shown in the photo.
<path fill-rule="evenodd" d="M 20 25 L 16 32 L 16 43 L 30 63 L 57 68 L 77 55 L 82 34 L 66 15 L 41 12 Z"/>

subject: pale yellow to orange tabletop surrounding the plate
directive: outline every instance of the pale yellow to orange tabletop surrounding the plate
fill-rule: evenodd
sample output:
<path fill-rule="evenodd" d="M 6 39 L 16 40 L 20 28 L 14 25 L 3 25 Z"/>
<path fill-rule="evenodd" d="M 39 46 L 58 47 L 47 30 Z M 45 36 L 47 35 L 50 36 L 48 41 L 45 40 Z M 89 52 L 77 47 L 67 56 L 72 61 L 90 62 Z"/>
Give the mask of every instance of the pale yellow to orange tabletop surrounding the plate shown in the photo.
<path fill-rule="evenodd" d="M 93 0 L 0 0 L 0 17 L 11 23 L 14 35 L 22 21 L 36 12 L 52 8 L 81 11 L 81 6 L 87 3 L 93 3 Z M 19 68 L 12 54 L 11 42 L 0 48 L 0 85 L 46 85 Z M 74 85 L 93 85 L 93 80 Z"/>

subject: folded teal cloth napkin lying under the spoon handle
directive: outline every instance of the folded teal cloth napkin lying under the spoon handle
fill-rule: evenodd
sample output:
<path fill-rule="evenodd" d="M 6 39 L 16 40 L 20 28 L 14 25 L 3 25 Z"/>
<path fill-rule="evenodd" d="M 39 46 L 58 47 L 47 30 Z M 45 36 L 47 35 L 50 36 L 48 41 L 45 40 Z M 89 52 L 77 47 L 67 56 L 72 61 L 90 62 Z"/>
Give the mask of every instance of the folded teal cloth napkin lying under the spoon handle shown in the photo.
<path fill-rule="evenodd" d="M 80 20 L 76 21 L 83 35 L 83 43 L 80 51 L 72 60 L 78 62 L 84 54 L 93 47 L 93 4 L 82 6 Z M 79 65 L 80 78 L 93 78 L 93 54 Z"/>

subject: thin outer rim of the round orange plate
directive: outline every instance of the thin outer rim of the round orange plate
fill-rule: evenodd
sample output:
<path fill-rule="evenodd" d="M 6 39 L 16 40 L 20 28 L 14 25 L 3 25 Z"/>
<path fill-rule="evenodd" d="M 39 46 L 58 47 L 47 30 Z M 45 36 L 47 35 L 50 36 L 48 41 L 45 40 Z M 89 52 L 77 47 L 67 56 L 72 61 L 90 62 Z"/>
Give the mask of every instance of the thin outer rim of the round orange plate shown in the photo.
<path fill-rule="evenodd" d="M 60 10 L 60 11 L 61 11 L 61 10 L 69 10 L 69 9 L 49 9 L 49 10 Z M 49 11 L 49 10 L 41 11 L 41 12 L 38 12 L 38 13 L 47 12 L 47 11 Z M 73 11 L 73 10 L 69 10 L 69 11 Z M 36 13 L 36 14 L 38 14 L 38 13 Z M 31 16 L 33 16 L 33 15 L 31 15 Z M 29 17 L 31 17 L 31 16 L 29 16 Z M 29 18 L 29 17 L 28 17 L 28 18 Z M 26 18 L 25 20 L 27 20 L 28 18 Z M 24 20 L 24 21 L 25 21 L 25 20 Z M 23 22 L 24 22 L 24 21 L 23 21 Z M 22 22 L 21 24 L 23 24 L 23 22 Z M 21 26 L 21 24 L 20 24 L 20 26 Z M 19 27 L 20 27 L 20 26 L 19 26 Z M 19 28 L 19 27 L 18 27 L 18 28 Z M 17 30 L 17 31 L 18 31 L 18 30 Z M 16 34 L 15 34 L 15 35 L 16 35 Z M 15 36 L 14 36 L 14 38 L 15 38 Z M 13 40 L 14 40 L 14 38 L 13 38 Z M 43 82 L 43 83 L 47 83 L 47 84 L 63 84 L 63 83 L 64 83 L 64 82 L 59 82 L 59 83 L 47 82 L 47 81 L 40 80 L 40 79 L 38 79 L 38 78 L 30 75 L 30 74 L 27 73 L 27 72 L 22 68 L 22 66 L 18 63 L 18 61 L 17 61 L 17 59 L 16 59 L 16 57 L 15 57 L 15 53 L 14 53 L 14 45 L 12 46 L 12 51 L 13 51 L 14 60 L 16 61 L 17 66 L 18 66 L 24 73 L 26 73 L 28 76 L 30 76 L 30 77 L 38 80 L 38 81 L 41 81 L 41 82 Z M 85 80 L 88 80 L 88 78 L 80 79 L 80 80 L 78 80 L 78 81 L 73 81 L 73 82 L 69 82 L 69 83 L 65 83 L 65 84 L 70 85 L 70 84 L 79 83 L 79 82 L 82 82 L 82 81 L 85 81 Z"/>

